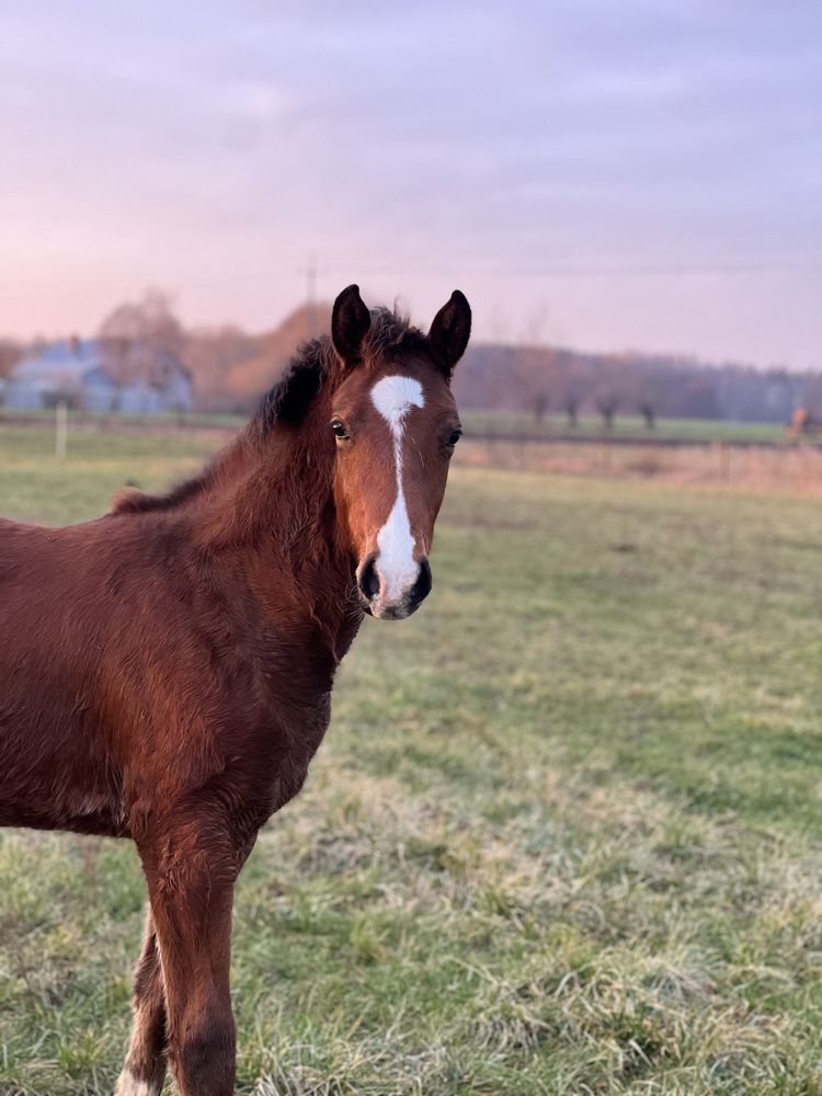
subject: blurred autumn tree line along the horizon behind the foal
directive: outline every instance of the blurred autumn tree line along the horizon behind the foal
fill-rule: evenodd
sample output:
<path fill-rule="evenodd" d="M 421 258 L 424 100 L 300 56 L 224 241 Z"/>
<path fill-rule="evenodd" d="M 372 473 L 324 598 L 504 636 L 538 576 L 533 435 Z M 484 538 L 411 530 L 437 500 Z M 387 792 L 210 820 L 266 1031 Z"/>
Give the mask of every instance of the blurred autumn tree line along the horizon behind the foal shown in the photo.
<path fill-rule="evenodd" d="M 286 367 L 296 346 L 324 331 L 330 306 L 297 308 L 276 328 L 250 334 L 236 326 L 185 329 L 168 295 L 149 290 L 113 309 L 98 338 L 114 379 L 151 383 L 168 355 L 192 374 L 196 404 L 208 411 L 251 411 Z M 0 377 L 36 344 L 0 339 Z M 161 379 L 158 377 L 158 379 Z M 604 426 L 617 415 L 788 422 L 797 408 L 822 421 L 822 373 L 711 364 L 641 353 L 585 354 L 556 346 L 475 343 L 455 375 L 460 406 L 513 410 L 539 424 L 562 415 L 570 429 L 582 414 Z"/>

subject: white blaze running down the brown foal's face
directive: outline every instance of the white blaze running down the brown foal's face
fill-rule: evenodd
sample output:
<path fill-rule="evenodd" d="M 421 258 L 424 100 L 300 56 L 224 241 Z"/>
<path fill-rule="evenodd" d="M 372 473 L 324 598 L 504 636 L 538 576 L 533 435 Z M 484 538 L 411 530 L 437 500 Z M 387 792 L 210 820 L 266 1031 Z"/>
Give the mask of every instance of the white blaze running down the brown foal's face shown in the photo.
<path fill-rule="evenodd" d="M 391 431 L 397 475 L 397 499 L 377 535 L 379 556 L 375 563 L 383 584 L 381 598 L 390 603 L 399 601 L 420 573 L 402 487 L 402 438 L 406 415 L 412 407 L 424 408 L 425 397 L 422 385 L 413 377 L 383 377 L 372 389 L 372 401 Z"/>

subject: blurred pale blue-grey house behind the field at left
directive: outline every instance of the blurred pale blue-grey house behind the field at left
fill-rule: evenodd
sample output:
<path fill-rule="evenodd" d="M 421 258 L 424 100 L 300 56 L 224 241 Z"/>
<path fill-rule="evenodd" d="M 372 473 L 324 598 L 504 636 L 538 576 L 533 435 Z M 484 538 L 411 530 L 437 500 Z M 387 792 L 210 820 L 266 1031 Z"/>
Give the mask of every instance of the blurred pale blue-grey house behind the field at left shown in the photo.
<path fill-rule="evenodd" d="M 173 354 L 141 344 L 69 339 L 22 358 L 12 369 L 4 404 L 158 414 L 190 411 L 192 377 Z"/>

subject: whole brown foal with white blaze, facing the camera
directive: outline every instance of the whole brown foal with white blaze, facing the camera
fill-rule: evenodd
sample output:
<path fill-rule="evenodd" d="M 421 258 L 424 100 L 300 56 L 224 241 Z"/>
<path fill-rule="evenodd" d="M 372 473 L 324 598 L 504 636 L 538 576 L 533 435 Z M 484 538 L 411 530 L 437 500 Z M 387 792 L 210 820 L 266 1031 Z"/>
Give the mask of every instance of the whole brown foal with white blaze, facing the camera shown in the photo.
<path fill-rule="evenodd" d="M 460 427 L 471 313 L 427 335 L 353 285 L 248 427 L 168 495 L 0 522 L 0 824 L 132 837 L 149 916 L 119 1096 L 233 1091 L 235 880 L 295 796 L 363 613 L 399 619 Z"/>

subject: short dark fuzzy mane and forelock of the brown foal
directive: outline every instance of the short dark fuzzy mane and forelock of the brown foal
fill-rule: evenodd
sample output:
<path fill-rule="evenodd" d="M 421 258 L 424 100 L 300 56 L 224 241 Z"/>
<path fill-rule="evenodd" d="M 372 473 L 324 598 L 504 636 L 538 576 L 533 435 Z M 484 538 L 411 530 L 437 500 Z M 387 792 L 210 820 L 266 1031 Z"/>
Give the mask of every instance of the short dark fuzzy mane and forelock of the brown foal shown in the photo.
<path fill-rule="evenodd" d="M 363 344 L 363 362 L 368 368 L 386 354 L 420 353 L 427 340 L 407 317 L 396 309 L 372 310 L 372 326 Z M 320 389 L 342 376 L 339 359 L 329 335 L 304 342 L 279 380 L 265 393 L 255 413 L 239 436 L 217 454 L 199 475 L 172 488 L 167 494 L 144 494 L 126 487 L 112 499 L 112 514 L 144 514 L 147 511 L 174 510 L 195 498 L 214 482 L 217 472 L 238 448 L 259 447 L 278 423 L 299 426 Z"/>

